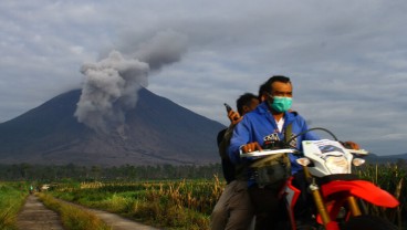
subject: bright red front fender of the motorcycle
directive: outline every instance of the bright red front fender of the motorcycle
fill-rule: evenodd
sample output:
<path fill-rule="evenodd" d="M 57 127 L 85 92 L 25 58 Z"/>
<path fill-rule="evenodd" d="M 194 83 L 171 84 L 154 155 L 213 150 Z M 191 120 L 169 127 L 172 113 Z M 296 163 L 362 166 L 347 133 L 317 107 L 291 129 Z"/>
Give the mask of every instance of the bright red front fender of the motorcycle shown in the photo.
<path fill-rule="evenodd" d="M 321 189 L 324 197 L 347 191 L 375 206 L 395 208 L 399 205 L 394 196 L 366 180 L 334 180 L 321 186 Z"/>

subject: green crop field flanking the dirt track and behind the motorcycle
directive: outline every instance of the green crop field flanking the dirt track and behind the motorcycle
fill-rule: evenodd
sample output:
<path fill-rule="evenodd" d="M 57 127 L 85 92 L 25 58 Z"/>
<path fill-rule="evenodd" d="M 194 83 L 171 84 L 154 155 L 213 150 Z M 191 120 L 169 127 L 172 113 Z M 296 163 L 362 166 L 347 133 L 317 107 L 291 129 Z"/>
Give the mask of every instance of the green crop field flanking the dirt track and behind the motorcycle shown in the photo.
<path fill-rule="evenodd" d="M 406 229 L 406 167 L 366 165 L 355 170 L 355 174 L 375 182 L 400 201 L 400 206 L 396 209 L 367 207 L 368 212 L 388 219 L 400 229 Z M 0 184 L 0 229 L 13 229 L 18 209 L 28 195 L 28 182 Z M 144 181 L 128 179 L 81 181 L 64 178 L 53 181 L 52 185 L 51 190 L 42 194 L 115 212 L 159 228 L 205 230 L 210 229 L 209 217 L 221 195 L 225 181 L 219 180 L 217 176 L 210 179 Z"/>

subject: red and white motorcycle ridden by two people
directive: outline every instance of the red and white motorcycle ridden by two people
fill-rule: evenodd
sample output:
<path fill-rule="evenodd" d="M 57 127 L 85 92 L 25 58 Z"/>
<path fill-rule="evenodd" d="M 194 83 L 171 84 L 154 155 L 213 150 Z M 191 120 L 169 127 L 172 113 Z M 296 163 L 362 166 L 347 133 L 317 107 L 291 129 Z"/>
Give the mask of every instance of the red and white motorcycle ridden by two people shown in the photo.
<path fill-rule="evenodd" d="M 363 165 L 363 156 L 368 151 L 346 148 L 324 128 L 307 132 L 314 129 L 327 132 L 333 139 L 304 140 L 302 153 L 285 144 L 285 148 L 280 149 L 240 153 L 240 157 L 252 159 L 250 167 L 255 171 L 254 178 L 260 186 L 279 185 L 280 200 L 286 211 L 281 229 L 398 229 L 364 210 L 366 203 L 385 208 L 399 205 L 387 191 L 352 174 L 352 167 Z M 294 138 L 296 136 L 290 140 Z M 301 155 L 296 163 L 301 165 L 302 172 L 291 175 L 290 160 L 286 160 L 289 154 Z"/>

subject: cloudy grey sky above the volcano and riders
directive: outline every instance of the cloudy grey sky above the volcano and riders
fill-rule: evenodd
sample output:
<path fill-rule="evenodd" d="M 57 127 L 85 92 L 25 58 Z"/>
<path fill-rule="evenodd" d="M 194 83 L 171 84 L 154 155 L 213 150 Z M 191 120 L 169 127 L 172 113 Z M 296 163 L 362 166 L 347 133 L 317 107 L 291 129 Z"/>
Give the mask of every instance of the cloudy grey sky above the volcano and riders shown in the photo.
<path fill-rule="evenodd" d="M 92 85 L 115 86 L 101 97 L 108 107 L 125 95 L 126 109 L 136 82 L 228 125 L 223 103 L 236 108 L 286 75 L 310 127 L 405 154 L 406 11 L 404 0 L 2 0 L 0 123 Z M 79 119 L 88 105 L 79 103 Z"/>

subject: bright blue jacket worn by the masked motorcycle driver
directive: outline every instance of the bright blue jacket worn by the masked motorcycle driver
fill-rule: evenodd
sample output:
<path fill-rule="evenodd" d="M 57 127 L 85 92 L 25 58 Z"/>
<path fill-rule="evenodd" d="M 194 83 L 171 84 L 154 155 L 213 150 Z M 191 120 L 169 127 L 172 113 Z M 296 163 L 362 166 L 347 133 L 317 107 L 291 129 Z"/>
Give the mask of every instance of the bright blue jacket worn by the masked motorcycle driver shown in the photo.
<path fill-rule="evenodd" d="M 284 140 L 284 130 L 289 124 L 292 124 L 292 136 L 307 130 L 305 119 L 295 112 L 284 113 L 283 130 L 279 132 L 274 117 L 269 111 L 267 102 L 261 103 L 254 111 L 246 114 L 243 119 L 234 127 L 232 138 L 229 146 L 229 157 L 233 164 L 241 164 L 239 149 L 242 145 L 258 142 L 263 146 L 264 139 Z M 320 139 L 312 132 L 307 132 L 291 142 L 291 146 L 302 149 L 302 140 Z M 292 174 L 301 170 L 301 166 L 296 164 L 298 157 L 290 155 Z"/>

